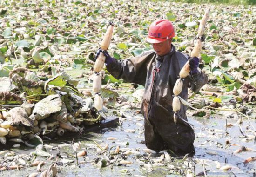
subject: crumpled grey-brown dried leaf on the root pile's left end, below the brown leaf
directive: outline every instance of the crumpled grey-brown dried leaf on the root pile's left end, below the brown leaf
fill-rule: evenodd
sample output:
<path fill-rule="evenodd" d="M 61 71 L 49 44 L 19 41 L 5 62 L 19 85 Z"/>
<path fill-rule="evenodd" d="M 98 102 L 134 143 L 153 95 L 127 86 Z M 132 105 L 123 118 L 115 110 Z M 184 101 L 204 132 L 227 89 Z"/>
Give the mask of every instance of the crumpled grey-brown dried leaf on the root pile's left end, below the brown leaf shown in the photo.
<path fill-rule="evenodd" d="M 25 125 L 29 127 L 34 126 L 34 121 L 28 118 L 27 112 L 21 107 L 15 107 L 7 112 L 7 121 L 11 122 L 13 126 Z"/>

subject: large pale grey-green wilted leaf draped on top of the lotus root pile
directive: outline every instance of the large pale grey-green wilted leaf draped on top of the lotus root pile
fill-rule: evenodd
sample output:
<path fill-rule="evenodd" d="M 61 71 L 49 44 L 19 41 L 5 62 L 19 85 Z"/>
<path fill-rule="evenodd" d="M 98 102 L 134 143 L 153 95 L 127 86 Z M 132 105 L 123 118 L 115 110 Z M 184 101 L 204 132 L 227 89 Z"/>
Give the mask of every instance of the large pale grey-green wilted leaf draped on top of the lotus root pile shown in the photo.
<path fill-rule="evenodd" d="M 62 101 L 59 95 L 49 95 L 34 105 L 34 117 L 37 120 L 47 118 L 50 114 L 61 111 Z"/>

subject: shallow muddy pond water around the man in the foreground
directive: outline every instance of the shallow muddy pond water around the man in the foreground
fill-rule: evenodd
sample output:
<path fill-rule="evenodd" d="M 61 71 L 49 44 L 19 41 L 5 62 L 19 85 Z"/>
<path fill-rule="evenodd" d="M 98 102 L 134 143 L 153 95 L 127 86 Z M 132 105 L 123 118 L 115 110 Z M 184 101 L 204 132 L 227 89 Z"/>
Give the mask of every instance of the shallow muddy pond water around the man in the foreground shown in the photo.
<path fill-rule="evenodd" d="M 150 161 L 152 157 L 159 157 L 161 154 L 155 154 L 147 158 L 148 154 L 143 151 L 146 148 L 144 144 L 144 132 L 143 132 L 143 117 L 140 114 L 132 114 L 131 112 L 125 112 L 126 118 L 119 118 L 120 125 L 116 127 L 103 128 L 101 131 L 95 131 L 90 133 L 84 133 L 81 136 L 77 135 L 65 135 L 65 137 L 54 138 L 51 141 L 45 139 L 44 143 L 49 144 L 53 147 L 47 148 L 52 154 L 59 154 L 65 159 L 74 160 L 71 164 L 60 164 L 57 166 L 59 177 L 119 177 L 119 176 L 148 176 L 148 177 L 175 177 L 182 176 L 179 175 L 179 170 L 170 169 L 170 164 L 174 166 L 177 162 L 169 162 L 161 167 L 154 167 L 148 170 L 143 167 L 146 162 L 145 159 Z M 205 171 L 209 177 L 252 177 L 254 176 L 253 171 L 256 170 L 256 161 L 250 162 L 248 164 L 243 164 L 243 161 L 248 157 L 255 157 L 255 151 L 242 151 L 240 153 L 234 153 L 235 150 L 240 149 L 239 146 L 231 145 L 226 146 L 226 141 L 228 140 L 231 144 L 239 144 L 251 149 L 256 149 L 255 140 L 246 140 L 240 132 L 240 128 L 236 124 L 237 119 L 229 118 L 228 123 L 234 126 L 226 128 L 226 120 L 219 118 L 196 118 L 189 117 L 189 122 L 194 125 L 195 129 L 195 156 L 193 158 L 187 159 L 190 162 L 195 162 L 193 171 L 198 174 L 203 171 L 202 164 L 198 163 L 199 159 L 204 159 Z M 241 124 L 242 130 L 247 135 L 252 135 L 253 132 L 250 130 L 256 127 L 255 119 L 251 120 L 251 125 L 249 126 L 249 121 L 243 119 Z M 108 140 L 109 137 L 112 137 Z M 80 165 L 75 165 L 74 157 L 67 157 L 65 152 L 74 155 L 72 147 L 69 145 L 72 139 L 75 142 L 81 141 L 81 149 L 87 151 L 87 156 L 79 157 Z M 116 138 L 113 140 L 113 138 Z M 132 164 L 121 165 L 116 162 L 113 169 L 111 169 L 112 164 L 107 165 L 107 167 L 100 170 L 100 166 L 93 164 L 95 159 L 101 160 L 103 154 L 98 154 L 97 145 L 104 146 L 108 144 L 109 151 L 115 150 L 116 146 L 120 146 L 120 151 L 129 148 L 130 150 L 137 151 L 136 155 L 127 156 L 127 161 L 131 161 Z M 47 147 L 47 146 L 46 146 Z M 26 146 L 21 146 L 18 149 L 10 149 L 15 151 L 16 154 L 24 154 L 33 152 L 34 149 L 29 149 Z M 55 157 L 55 156 L 54 156 Z M 117 156 L 114 156 L 116 158 Z M 121 157 L 120 157 L 121 158 Z M 43 158 L 45 159 L 45 158 Z M 60 160 L 60 159 L 59 159 Z M 223 171 L 216 168 L 216 163 L 218 161 L 221 166 L 230 165 L 231 170 Z M 53 160 L 47 162 L 42 169 L 45 170 L 53 162 Z M 181 160 L 179 161 L 179 163 Z M 169 165 L 168 165 L 169 164 Z M 180 163 L 182 164 L 182 163 Z M 184 164 L 183 164 L 184 166 Z M 179 169 L 179 168 L 178 168 Z M 180 168 L 180 170 L 185 170 Z M 3 171 L 0 172 L 0 176 L 3 177 L 26 177 L 30 173 L 36 172 L 36 167 L 27 167 L 20 170 Z M 125 173 L 125 174 L 124 174 Z M 40 173 L 39 175 L 40 176 Z"/>

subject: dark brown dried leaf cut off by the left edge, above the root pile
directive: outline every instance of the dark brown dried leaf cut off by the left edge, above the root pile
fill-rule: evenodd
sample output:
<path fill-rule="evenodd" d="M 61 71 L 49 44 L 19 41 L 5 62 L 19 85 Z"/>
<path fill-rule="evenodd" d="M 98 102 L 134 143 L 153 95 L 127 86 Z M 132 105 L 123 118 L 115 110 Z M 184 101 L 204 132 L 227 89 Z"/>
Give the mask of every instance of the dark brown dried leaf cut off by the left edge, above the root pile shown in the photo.
<path fill-rule="evenodd" d="M 0 92 L 0 104 L 10 105 L 10 104 L 22 104 L 22 98 L 12 92 Z"/>

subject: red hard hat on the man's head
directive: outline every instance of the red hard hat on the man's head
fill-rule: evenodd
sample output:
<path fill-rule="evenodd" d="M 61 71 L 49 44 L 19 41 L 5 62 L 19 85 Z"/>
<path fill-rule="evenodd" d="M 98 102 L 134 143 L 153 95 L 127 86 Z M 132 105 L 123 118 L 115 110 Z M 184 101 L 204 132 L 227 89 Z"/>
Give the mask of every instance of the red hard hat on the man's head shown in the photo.
<path fill-rule="evenodd" d="M 171 39 L 174 36 L 174 27 L 170 20 L 155 20 L 149 26 L 147 41 L 151 44 L 160 43 Z"/>

